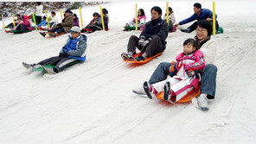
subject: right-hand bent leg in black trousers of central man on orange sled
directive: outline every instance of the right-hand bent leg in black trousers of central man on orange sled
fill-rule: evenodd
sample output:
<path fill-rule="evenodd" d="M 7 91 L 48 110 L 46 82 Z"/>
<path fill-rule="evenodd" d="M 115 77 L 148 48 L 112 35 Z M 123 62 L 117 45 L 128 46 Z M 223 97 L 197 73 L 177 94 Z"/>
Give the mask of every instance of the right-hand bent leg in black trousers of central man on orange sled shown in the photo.
<path fill-rule="evenodd" d="M 147 53 L 147 55 L 151 57 L 157 53 L 162 53 L 163 51 L 164 49 L 160 38 L 158 36 L 154 36 L 148 46 L 146 46 L 144 53 Z"/>

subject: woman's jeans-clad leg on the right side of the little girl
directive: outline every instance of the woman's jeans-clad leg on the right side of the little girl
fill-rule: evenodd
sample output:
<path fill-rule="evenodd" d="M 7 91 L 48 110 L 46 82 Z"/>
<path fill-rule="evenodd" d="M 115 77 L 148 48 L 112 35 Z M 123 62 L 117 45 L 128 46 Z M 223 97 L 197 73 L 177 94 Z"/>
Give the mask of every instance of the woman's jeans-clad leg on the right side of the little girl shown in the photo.
<path fill-rule="evenodd" d="M 217 67 L 208 64 L 202 70 L 201 94 L 207 94 L 208 99 L 214 99 L 216 91 Z"/>

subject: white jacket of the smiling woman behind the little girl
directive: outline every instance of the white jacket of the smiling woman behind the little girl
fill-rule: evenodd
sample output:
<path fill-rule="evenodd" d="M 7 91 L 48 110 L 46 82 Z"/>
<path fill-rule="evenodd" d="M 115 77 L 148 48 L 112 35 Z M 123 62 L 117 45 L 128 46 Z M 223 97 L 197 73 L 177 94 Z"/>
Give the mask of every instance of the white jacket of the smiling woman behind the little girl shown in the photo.
<path fill-rule="evenodd" d="M 214 38 L 211 37 L 209 41 L 204 43 L 200 48 L 200 51 L 203 53 L 203 57 L 205 59 L 205 64 L 213 64 L 216 56 L 216 43 L 214 42 Z"/>

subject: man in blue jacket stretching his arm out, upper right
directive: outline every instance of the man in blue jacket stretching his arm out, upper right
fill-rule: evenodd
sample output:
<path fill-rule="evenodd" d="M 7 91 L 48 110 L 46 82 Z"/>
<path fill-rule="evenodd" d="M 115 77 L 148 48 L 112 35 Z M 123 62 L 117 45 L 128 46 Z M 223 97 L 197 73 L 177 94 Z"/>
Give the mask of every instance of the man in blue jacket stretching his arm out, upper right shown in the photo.
<path fill-rule="evenodd" d="M 195 12 L 194 15 L 190 16 L 189 18 L 187 18 L 187 19 L 185 19 L 185 20 L 183 20 L 179 23 L 177 23 L 176 27 L 179 26 L 179 25 L 183 25 L 183 24 L 186 24 L 186 23 L 197 20 L 191 26 L 189 26 L 189 28 L 181 29 L 182 32 L 191 33 L 197 27 L 198 21 L 207 20 L 207 21 L 213 22 L 213 12 L 209 9 L 202 9 L 201 3 L 195 3 L 194 4 L 194 12 Z M 218 21 L 217 21 L 217 15 L 215 15 L 215 18 L 216 18 L 216 30 L 218 30 L 219 24 L 218 24 Z"/>

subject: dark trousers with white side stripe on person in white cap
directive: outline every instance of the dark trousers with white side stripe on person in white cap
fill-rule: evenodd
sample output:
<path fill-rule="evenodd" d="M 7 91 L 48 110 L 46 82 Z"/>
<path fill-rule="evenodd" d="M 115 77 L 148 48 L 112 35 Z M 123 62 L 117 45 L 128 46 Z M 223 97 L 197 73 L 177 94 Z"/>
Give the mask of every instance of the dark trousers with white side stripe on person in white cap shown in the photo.
<path fill-rule="evenodd" d="M 59 56 L 51 57 L 48 59 L 44 59 L 37 63 L 38 65 L 55 65 L 56 68 L 59 69 L 59 71 L 62 71 L 64 68 L 69 66 L 73 62 L 79 62 L 78 59 L 73 58 L 59 58 Z"/>

